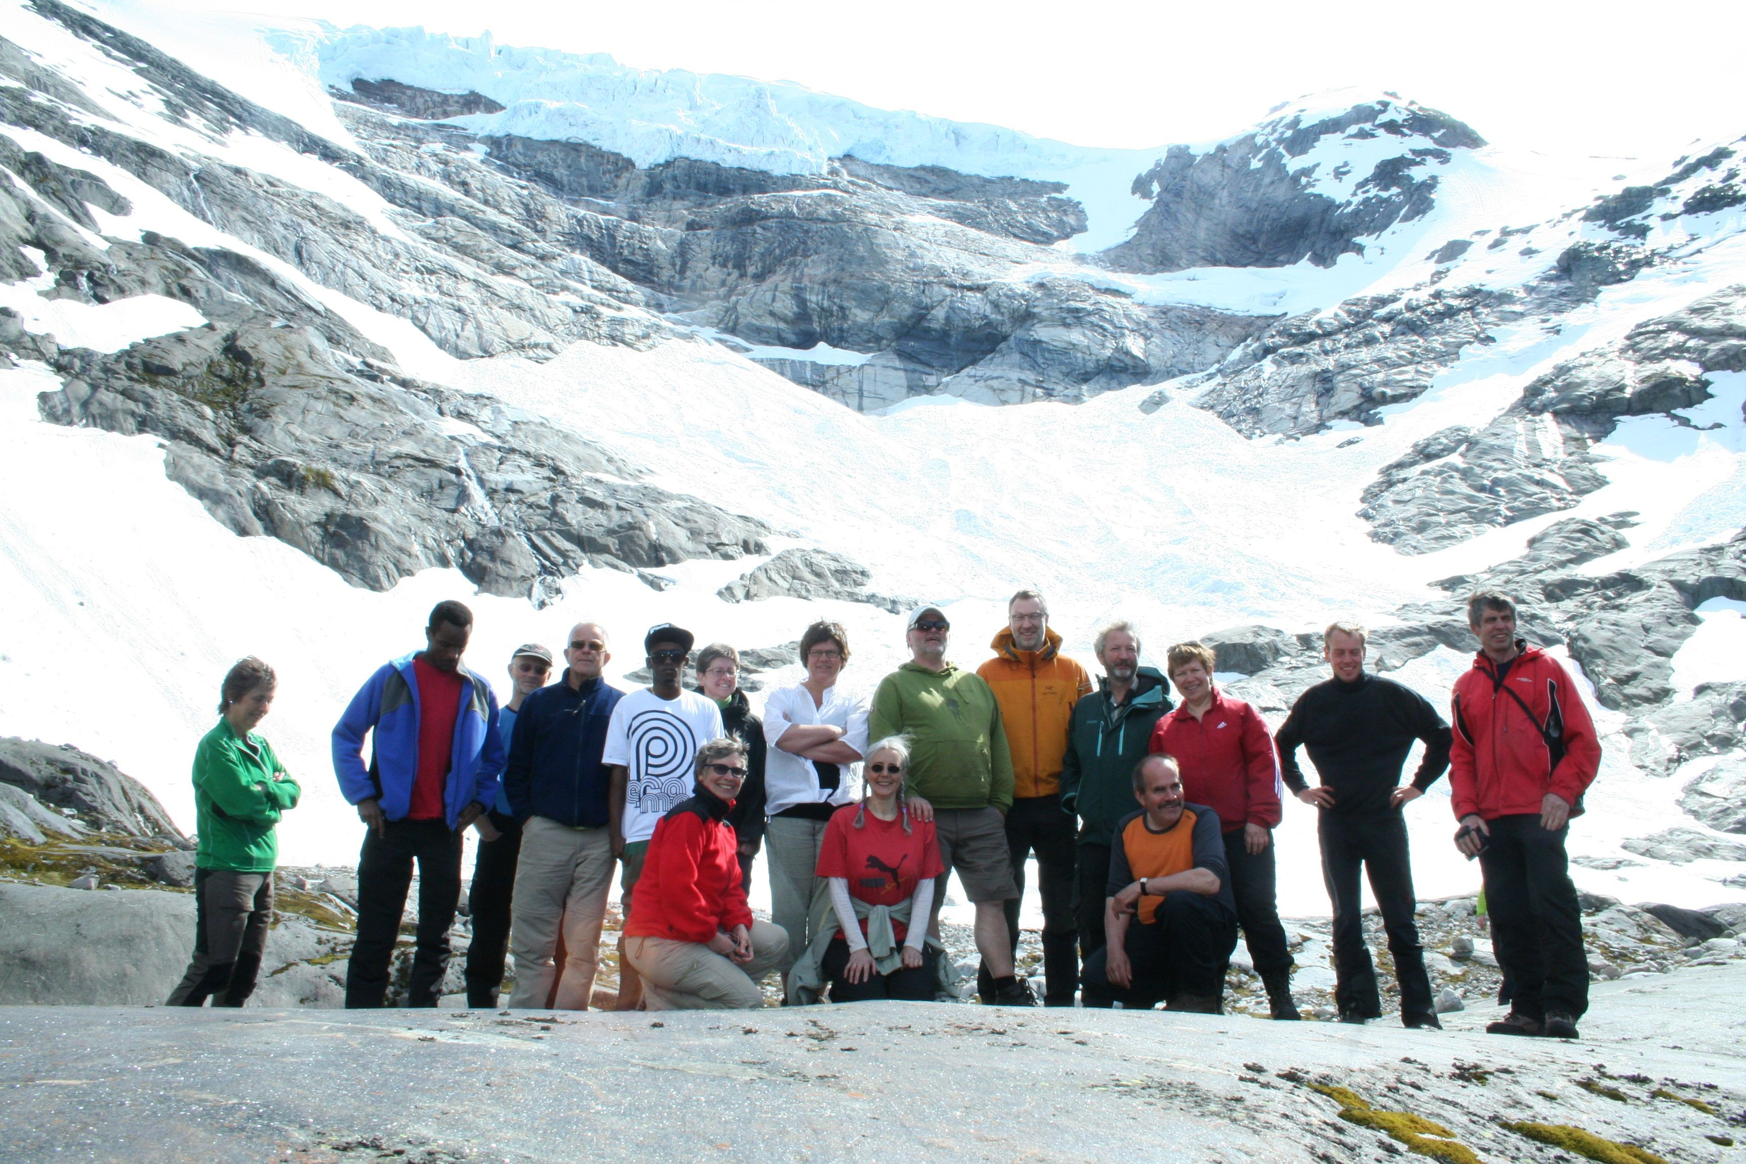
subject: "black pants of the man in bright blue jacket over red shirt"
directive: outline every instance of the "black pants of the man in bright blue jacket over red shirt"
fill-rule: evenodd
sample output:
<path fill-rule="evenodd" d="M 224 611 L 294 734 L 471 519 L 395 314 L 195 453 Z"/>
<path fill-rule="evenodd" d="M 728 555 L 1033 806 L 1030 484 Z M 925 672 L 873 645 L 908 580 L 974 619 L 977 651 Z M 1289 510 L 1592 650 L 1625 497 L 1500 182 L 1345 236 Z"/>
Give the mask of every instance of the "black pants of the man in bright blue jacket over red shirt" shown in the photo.
<path fill-rule="evenodd" d="M 419 937 L 409 1007 L 435 1007 L 449 972 L 449 927 L 461 900 L 461 834 L 445 820 L 389 820 L 382 836 L 363 834 L 358 855 L 358 941 L 346 967 L 346 1007 L 381 1007 L 400 914 L 419 862 Z"/>

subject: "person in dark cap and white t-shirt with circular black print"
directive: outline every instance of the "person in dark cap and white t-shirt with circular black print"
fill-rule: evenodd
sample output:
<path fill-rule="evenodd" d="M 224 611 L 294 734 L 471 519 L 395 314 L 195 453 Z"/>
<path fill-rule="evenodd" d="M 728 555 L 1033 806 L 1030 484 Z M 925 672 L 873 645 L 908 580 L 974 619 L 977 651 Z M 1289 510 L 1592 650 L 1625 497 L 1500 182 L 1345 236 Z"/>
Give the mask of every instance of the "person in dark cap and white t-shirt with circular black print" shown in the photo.
<path fill-rule="evenodd" d="M 691 796 L 697 749 L 723 735 L 716 702 L 679 686 L 693 642 L 697 637 L 690 630 L 672 623 L 651 627 L 643 649 L 653 682 L 618 700 L 606 728 L 601 763 L 613 770 L 608 815 L 613 852 L 623 862 L 620 902 L 627 918 L 655 822 Z M 623 937 L 618 939 L 618 1009 L 634 1010 L 643 983 L 625 958 Z"/>

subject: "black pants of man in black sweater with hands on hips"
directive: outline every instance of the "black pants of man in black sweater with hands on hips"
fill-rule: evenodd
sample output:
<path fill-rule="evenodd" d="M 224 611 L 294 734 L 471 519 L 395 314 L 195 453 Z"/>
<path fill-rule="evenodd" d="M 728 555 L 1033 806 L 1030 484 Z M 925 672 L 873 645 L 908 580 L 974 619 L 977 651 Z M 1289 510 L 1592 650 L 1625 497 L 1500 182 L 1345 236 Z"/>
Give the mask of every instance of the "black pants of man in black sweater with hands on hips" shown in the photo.
<path fill-rule="evenodd" d="M 1388 953 L 1400 984 L 1400 1016 L 1413 1019 L 1432 1012 L 1430 976 L 1413 909 L 1413 864 L 1407 855 L 1407 822 L 1399 811 L 1343 817 L 1322 811 L 1322 880 L 1334 902 L 1334 1005 L 1339 1012 L 1376 1019 L 1383 1014 L 1376 965 L 1364 944 L 1364 899 L 1360 871 L 1371 876 L 1371 894 L 1383 914 Z"/>

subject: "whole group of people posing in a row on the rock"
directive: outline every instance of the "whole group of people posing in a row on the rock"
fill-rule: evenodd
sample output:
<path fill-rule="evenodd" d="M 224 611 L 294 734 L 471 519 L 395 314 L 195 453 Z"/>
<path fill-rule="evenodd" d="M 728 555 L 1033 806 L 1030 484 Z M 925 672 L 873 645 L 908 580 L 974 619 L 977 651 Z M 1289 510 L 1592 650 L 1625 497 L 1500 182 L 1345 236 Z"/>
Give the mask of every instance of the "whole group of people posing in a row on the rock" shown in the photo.
<path fill-rule="evenodd" d="M 952 873 L 974 907 L 981 1000 L 1035 1005 L 1014 974 L 1035 855 L 1044 1005 L 1217 1014 L 1241 934 L 1271 1016 L 1296 1019 L 1273 848 L 1289 787 L 1316 810 L 1339 1017 L 1381 1016 L 1362 927 L 1367 873 L 1402 1021 L 1439 1026 L 1402 810 L 1447 770 L 1456 846 L 1481 862 L 1514 989 L 1510 1014 L 1488 1030 L 1573 1038 L 1587 963 L 1564 838 L 1599 745 L 1564 668 L 1516 635 L 1507 595 L 1474 595 L 1468 621 L 1481 649 L 1454 684 L 1453 728 L 1365 670 L 1362 627 L 1334 623 L 1330 677 L 1269 733 L 1219 688 L 1212 647 L 1182 642 L 1165 672 L 1142 667 L 1128 621 L 1096 632 L 1093 688 L 1035 590 L 1013 595 L 974 672 L 946 658 L 945 611 L 911 611 L 911 658 L 870 702 L 838 684 L 847 632 L 814 623 L 800 640 L 805 679 L 770 693 L 761 719 L 732 646 L 697 651 L 697 688 L 684 686 L 695 637 L 669 623 L 643 640 L 648 688 L 606 682 L 611 639 L 585 621 L 552 682 L 552 653 L 519 647 L 499 707 L 463 663 L 471 613 L 440 602 L 424 649 L 382 665 L 333 728 L 333 770 L 365 824 L 346 1005 L 384 1005 L 414 864 L 409 1003 L 436 1005 L 473 827 L 473 1007 L 498 1005 L 508 955 L 510 1007 L 587 1009 L 615 869 L 625 920 L 609 1005 L 622 1010 L 758 1007 L 770 972 L 791 1003 L 950 996 L 939 906 Z M 196 754 L 199 937 L 173 1003 L 241 1005 L 253 988 L 272 829 L 299 798 L 255 731 L 272 693 L 265 663 L 239 661 Z M 1414 742 L 1423 761 L 1400 784 Z M 747 904 L 760 852 L 772 921 Z"/>

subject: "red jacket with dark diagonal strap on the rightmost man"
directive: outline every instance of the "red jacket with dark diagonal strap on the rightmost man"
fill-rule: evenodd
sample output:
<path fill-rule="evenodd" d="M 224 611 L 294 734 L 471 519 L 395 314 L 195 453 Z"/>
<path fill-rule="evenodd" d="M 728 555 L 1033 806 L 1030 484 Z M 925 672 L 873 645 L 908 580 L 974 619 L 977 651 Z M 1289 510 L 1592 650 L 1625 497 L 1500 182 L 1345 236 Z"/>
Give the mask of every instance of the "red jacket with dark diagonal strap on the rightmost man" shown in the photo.
<path fill-rule="evenodd" d="M 1454 817 L 1484 820 L 1540 813 L 1547 792 L 1582 811 L 1578 798 L 1601 766 L 1594 721 L 1570 672 L 1517 640 L 1498 667 L 1484 653 L 1454 681 L 1449 721 L 1449 798 Z"/>

